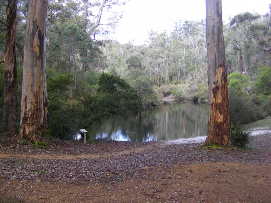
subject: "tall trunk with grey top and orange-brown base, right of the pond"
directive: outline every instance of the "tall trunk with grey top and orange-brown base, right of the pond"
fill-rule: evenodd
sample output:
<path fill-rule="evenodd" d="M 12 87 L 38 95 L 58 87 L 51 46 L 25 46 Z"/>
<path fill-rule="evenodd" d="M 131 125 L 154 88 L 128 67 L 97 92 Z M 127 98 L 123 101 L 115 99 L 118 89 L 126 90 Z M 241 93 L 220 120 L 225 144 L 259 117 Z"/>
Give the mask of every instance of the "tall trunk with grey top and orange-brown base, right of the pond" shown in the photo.
<path fill-rule="evenodd" d="M 206 36 L 209 85 L 209 123 L 205 143 L 231 145 L 221 0 L 206 0 Z"/>

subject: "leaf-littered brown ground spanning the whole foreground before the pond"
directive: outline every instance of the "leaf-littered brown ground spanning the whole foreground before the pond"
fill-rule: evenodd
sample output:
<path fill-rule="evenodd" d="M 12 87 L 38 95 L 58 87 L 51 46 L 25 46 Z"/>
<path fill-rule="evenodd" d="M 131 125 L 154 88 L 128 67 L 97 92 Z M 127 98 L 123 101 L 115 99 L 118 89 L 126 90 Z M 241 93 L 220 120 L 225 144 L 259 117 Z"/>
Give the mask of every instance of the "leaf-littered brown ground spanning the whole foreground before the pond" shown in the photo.
<path fill-rule="evenodd" d="M 251 126 L 268 130 L 271 119 L 260 123 Z M 1 138 L 0 202 L 269 202 L 270 137 L 252 136 L 250 151 L 103 139 L 42 149 Z"/>

